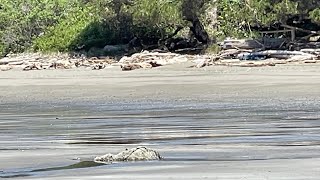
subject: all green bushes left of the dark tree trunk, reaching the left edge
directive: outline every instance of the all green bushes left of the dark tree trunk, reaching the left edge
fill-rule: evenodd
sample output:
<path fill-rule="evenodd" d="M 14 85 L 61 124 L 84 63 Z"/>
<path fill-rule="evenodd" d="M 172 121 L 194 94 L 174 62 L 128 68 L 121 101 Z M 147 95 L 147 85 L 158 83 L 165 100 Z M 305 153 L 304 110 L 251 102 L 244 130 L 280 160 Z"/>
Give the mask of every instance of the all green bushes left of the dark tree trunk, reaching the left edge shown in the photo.
<path fill-rule="evenodd" d="M 181 24 L 181 0 L 2 0 L 0 54 L 72 51 L 159 39 Z"/>

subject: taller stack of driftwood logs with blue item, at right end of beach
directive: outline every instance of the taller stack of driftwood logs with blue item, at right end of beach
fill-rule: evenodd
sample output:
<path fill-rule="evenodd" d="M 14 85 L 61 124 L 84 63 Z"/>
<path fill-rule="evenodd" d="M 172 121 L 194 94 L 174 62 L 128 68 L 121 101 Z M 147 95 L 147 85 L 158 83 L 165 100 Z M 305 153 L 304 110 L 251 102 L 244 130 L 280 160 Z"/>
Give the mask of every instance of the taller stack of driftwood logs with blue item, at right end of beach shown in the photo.
<path fill-rule="evenodd" d="M 258 40 L 225 40 L 220 46 L 222 51 L 215 58 L 197 62 L 196 67 L 210 65 L 261 67 L 287 63 L 320 63 L 320 48 L 306 48 L 299 51 L 265 50 L 265 45 Z"/>

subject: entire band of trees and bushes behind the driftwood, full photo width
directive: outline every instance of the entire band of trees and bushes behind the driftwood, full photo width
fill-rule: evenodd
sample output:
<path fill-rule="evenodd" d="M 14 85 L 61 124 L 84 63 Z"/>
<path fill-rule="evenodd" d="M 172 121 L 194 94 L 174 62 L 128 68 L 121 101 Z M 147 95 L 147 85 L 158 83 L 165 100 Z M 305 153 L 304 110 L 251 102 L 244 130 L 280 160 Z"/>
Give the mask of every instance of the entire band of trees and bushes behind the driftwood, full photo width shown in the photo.
<path fill-rule="evenodd" d="M 319 31 L 320 1 L 1 0 L 0 56 L 90 52 L 128 43 L 170 48 L 173 37 L 210 44 L 256 37 L 282 24 Z"/>

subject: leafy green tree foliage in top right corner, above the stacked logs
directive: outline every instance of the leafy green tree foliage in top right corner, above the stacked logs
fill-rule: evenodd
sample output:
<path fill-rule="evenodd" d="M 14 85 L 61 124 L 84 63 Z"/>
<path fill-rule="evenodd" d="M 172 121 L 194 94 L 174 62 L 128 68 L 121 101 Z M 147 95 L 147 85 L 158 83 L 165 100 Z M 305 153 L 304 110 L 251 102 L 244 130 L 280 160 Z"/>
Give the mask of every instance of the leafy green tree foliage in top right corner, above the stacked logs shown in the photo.
<path fill-rule="evenodd" d="M 253 37 L 252 28 L 279 28 L 293 17 L 320 19 L 315 0 L 218 0 L 218 30 L 220 37 Z M 310 16 L 309 16 L 310 15 Z"/>

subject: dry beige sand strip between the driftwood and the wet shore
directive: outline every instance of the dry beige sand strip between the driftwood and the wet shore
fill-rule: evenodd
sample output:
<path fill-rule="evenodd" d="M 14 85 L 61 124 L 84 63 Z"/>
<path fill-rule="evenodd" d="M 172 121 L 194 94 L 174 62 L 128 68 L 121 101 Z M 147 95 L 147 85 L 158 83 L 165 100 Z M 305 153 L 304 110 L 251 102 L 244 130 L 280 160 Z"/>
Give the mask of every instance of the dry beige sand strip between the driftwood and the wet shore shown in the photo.
<path fill-rule="evenodd" d="M 131 72 L 122 72 L 116 67 L 101 71 L 0 72 L 0 98 L 5 103 L 110 99 L 233 101 L 319 96 L 320 64 L 186 67 L 188 65 L 171 65 Z"/>

